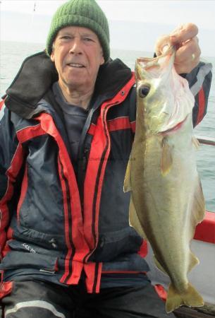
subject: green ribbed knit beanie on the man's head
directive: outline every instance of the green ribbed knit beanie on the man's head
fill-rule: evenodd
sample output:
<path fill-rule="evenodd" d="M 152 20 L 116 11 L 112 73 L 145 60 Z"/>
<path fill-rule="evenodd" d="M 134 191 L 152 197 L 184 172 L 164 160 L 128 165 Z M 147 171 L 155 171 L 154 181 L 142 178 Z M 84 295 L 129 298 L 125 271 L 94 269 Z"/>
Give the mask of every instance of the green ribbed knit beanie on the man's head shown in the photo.
<path fill-rule="evenodd" d="M 95 0 L 70 0 L 57 9 L 47 37 L 47 54 L 49 56 L 59 30 L 70 25 L 89 28 L 96 33 L 102 45 L 104 61 L 109 59 L 109 24 L 104 12 Z"/>

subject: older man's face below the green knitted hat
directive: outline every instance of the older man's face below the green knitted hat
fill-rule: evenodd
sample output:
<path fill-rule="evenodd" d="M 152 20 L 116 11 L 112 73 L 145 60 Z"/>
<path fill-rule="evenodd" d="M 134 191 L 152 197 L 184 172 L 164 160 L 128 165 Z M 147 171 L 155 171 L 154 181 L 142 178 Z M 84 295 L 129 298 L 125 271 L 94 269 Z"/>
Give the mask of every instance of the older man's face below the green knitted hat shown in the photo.
<path fill-rule="evenodd" d="M 69 26 L 56 35 L 51 61 L 59 73 L 60 86 L 88 90 L 94 88 L 104 57 L 99 39 L 92 30 Z"/>

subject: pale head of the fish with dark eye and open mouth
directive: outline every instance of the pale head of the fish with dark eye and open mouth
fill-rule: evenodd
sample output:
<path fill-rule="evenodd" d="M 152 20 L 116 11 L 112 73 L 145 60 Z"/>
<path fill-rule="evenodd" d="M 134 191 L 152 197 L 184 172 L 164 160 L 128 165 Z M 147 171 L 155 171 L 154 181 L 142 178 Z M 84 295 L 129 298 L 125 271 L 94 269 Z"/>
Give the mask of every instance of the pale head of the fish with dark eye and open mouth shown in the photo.
<path fill-rule="evenodd" d="M 137 117 L 150 134 L 173 129 L 192 112 L 194 97 L 188 81 L 174 68 L 176 49 L 156 58 L 138 58 L 135 64 Z"/>

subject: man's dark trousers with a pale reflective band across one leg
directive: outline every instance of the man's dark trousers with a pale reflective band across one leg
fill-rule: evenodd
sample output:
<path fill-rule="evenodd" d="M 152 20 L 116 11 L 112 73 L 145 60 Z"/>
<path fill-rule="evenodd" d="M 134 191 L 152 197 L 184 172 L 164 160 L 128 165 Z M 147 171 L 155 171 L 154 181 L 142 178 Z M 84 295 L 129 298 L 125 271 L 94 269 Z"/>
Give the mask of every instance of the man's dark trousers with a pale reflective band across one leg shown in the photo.
<path fill-rule="evenodd" d="M 62 287 L 42 281 L 15 281 L 2 299 L 5 318 L 173 318 L 152 285 L 104 288 L 89 294 L 85 285 Z"/>

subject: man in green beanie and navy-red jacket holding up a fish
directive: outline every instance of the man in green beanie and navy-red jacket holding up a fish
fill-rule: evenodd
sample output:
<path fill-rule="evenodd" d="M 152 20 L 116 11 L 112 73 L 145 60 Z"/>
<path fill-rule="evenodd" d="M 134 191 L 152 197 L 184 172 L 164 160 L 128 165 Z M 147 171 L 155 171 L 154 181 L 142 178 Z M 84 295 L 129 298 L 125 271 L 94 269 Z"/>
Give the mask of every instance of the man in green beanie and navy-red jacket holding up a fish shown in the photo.
<path fill-rule="evenodd" d="M 196 35 L 188 24 L 156 45 L 156 54 L 176 45 L 178 73 L 190 86 L 202 81 L 194 124 L 211 82 L 211 73 L 197 79 L 204 64 L 197 66 Z M 70 0 L 56 11 L 47 54 L 25 60 L 0 126 L 5 317 L 173 317 L 147 278 L 142 238 L 128 223 L 123 179 L 135 80 L 122 61 L 109 59 L 109 26 L 94 0 Z"/>

